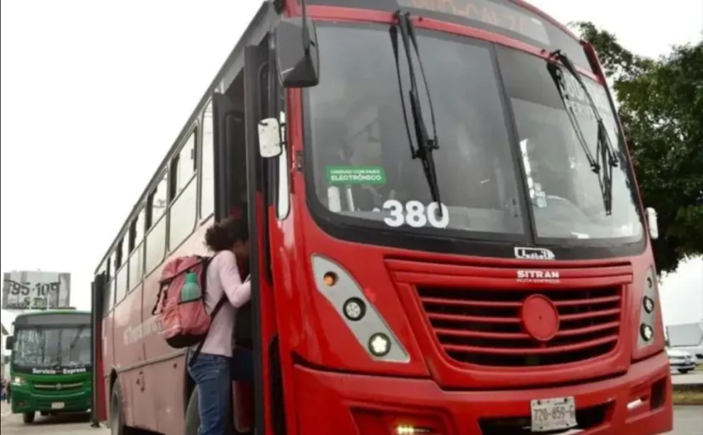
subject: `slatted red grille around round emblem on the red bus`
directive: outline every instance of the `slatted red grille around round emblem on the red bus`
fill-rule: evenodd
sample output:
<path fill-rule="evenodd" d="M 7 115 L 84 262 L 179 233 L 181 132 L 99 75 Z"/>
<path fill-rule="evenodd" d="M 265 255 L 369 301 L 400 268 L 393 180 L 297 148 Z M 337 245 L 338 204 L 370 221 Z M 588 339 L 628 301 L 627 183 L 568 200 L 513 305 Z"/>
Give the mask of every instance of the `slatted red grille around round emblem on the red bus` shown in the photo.
<path fill-rule="evenodd" d="M 596 358 L 617 346 L 620 286 L 578 290 L 416 288 L 444 353 L 460 363 L 556 365 Z M 549 298 L 558 312 L 558 333 L 546 342 L 537 341 L 522 326 L 522 304 L 533 294 Z"/>

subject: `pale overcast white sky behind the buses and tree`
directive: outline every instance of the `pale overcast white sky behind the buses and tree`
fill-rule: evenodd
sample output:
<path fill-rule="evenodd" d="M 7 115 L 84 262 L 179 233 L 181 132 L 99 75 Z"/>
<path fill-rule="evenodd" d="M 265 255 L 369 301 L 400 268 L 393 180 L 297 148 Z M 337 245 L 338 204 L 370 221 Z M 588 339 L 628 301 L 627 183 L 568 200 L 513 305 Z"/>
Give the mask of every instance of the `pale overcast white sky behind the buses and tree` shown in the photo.
<path fill-rule="evenodd" d="M 92 272 L 260 4 L 1 2 L 1 271 L 71 272 L 72 304 L 89 309 Z M 702 35 L 701 0 L 532 4 L 641 55 Z M 701 319 L 703 260 L 661 297 L 666 323 Z"/>

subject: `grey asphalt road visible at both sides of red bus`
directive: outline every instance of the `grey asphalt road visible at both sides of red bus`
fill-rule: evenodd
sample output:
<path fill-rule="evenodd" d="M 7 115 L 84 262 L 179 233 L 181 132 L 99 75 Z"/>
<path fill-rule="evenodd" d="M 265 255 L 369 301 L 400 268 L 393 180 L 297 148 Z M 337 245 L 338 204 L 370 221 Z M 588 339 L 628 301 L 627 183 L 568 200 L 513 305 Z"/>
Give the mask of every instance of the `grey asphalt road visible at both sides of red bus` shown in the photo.
<path fill-rule="evenodd" d="M 2 435 L 108 435 L 108 429 L 92 429 L 84 415 L 65 417 L 38 417 L 34 424 L 26 425 L 20 415 L 0 416 Z M 703 433 L 703 406 L 675 407 L 674 431 L 666 435 L 701 435 Z"/>

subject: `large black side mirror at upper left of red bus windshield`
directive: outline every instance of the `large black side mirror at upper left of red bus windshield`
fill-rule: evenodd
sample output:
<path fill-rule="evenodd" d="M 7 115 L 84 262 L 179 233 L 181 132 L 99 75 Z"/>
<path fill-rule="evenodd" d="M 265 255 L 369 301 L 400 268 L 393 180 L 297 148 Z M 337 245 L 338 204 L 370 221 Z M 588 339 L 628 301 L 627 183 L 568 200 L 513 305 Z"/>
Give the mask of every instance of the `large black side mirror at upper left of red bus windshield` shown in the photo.
<path fill-rule="evenodd" d="M 310 18 L 282 18 L 276 27 L 276 62 L 285 88 L 317 86 L 320 82 L 317 32 Z"/>

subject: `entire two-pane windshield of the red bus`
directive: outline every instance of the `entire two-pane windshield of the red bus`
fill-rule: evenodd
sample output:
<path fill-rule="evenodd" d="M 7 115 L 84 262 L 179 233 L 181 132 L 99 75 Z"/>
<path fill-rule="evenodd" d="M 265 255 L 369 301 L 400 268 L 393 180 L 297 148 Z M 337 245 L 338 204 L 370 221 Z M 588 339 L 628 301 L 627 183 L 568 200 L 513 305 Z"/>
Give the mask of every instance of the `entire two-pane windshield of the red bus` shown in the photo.
<path fill-rule="evenodd" d="M 607 214 L 598 177 L 585 165 L 543 59 L 417 29 L 434 122 L 420 78 L 418 94 L 430 136 L 436 134 L 439 145 L 432 153 L 446 211 L 439 213 L 422 161 L 410 151 L 415 135 L 407 134 L 405 120 L 411 132 L 415 126 L 403 44 L 398 43 L 396 68 L 389 26 L 320 23 L 317 38 L 322 76 L 317 87 L 306 91 L 305 134 L 315 200 L 325 213 L 332 212 L 332 219 L 392 231 L 511 241 L 524 239 L 532 215 L 537 238 L 641 236 L 626 158 L 613 171 L 614 205 Z M 583 98 L 573 77 L 564 76 L 570 95 Z M 586 81 L 611 141 L 622 153 L 605 90 Z M 577 106 L 587 145 L 595 153 L 592 110 Z"/>

